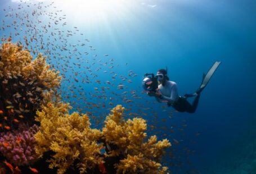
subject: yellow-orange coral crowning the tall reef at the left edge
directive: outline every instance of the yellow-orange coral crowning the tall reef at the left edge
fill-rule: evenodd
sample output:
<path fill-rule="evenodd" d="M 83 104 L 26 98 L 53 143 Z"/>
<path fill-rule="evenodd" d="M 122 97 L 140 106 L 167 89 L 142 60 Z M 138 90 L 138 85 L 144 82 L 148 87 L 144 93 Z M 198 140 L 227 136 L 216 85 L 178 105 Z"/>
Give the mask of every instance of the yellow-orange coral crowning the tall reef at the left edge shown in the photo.
<path fill-rule="evenodd" d="M 60 85 L 61 76 L 46 64 L 46 58 L 38 54 L 34 59 L 28 50 L 10 42 L 0 48 L 0 77 L 23 76 L 25 79 L 36 79 L 47 89 Z"/>

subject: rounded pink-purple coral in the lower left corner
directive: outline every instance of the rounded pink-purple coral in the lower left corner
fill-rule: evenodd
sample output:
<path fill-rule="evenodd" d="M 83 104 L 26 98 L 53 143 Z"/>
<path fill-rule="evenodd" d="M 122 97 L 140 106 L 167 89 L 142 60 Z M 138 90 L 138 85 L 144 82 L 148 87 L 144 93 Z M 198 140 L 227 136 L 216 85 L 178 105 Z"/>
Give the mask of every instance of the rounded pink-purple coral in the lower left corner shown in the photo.
<path fill-rule="evenodd" d="M 0 152 L 6 159 L 16 166 L 33 164 L 38 159 L 35 153 L 34 134 L 38 131 L 38 126 L 34 125 L 23 132 L 1 133 Z"/>

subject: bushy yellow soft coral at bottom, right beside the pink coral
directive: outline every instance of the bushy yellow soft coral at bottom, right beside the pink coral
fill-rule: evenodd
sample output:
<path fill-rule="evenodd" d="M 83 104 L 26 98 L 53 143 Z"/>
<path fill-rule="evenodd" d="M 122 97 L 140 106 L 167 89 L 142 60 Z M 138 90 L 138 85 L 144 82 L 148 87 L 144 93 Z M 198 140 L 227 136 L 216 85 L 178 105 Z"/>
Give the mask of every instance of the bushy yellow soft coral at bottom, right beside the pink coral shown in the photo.
<path fill-rule="evenodd" d="M 77 112 L 69 115 L 68 109 L 65 104 L 55 107 L 48 103 L 42 112 L 37 112 L 36 120 L 41 122 L 41 127 L 35 134 L 36 152 L 41 156 L 48 150 L 55 152 L 50 168 L 57 167 L 58 173 L 64 173 L 76 159 L 80 161 L 77 165 L 80 172 L 84 172 L 102 162 L 96 142 L 101 132 L 89 127 L 87 115 L 80 116 Z"/>

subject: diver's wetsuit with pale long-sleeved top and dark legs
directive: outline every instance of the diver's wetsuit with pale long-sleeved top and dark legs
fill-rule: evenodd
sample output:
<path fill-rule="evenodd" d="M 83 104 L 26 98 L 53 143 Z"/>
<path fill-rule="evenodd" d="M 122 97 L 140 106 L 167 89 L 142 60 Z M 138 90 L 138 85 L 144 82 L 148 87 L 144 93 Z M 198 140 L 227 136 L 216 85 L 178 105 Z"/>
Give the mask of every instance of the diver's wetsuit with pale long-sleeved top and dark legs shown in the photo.
<path fill-rule="evenodd" d="M 191 105 L 185 97 L 178 95 L 177 84 L 174 81 L 167 81 L 164 86 L 160 84 L 158 85 L 158 89 L 163 95 L 163 99 L 156 97 L 158 102 L 167 100 L 168 106 L 172 106 L 178 112 L 194 113 L 196 111 L 200 94 L 196 96 L 194 102 Z"/>

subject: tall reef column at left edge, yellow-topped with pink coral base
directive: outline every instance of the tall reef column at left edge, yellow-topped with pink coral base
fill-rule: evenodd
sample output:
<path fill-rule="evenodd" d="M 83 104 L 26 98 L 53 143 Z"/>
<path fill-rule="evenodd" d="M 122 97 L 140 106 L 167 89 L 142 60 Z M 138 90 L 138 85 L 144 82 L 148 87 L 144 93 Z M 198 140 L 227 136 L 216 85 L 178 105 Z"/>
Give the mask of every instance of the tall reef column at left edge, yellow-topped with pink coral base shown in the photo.
<path fill-rule="evenodd" d="M 23 46 L 7 41 L 0 48 L 0 159 L 9 166 L 30 166 L 39 159 L 35 112 L 50 101 L 59 103 L 61 77 L 42 54 L 33 59 Z"/>

